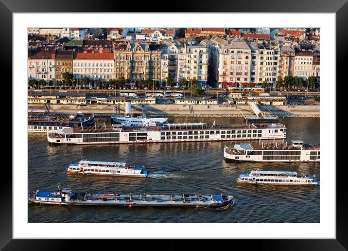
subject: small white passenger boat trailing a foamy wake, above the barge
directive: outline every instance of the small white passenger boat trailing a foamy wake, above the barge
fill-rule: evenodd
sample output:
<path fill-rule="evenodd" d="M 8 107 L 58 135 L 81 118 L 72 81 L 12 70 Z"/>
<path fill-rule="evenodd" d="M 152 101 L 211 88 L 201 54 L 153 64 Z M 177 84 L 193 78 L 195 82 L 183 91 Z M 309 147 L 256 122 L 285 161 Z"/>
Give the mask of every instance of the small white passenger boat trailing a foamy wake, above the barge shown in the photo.
<path fill-rule="evenodd" d="M 80 161 L 70 164 L 68 173 L 94 174 L 108 176 L 146 177 L 147 171 L 141 167 L 126 165 L 123 162 Z"/>

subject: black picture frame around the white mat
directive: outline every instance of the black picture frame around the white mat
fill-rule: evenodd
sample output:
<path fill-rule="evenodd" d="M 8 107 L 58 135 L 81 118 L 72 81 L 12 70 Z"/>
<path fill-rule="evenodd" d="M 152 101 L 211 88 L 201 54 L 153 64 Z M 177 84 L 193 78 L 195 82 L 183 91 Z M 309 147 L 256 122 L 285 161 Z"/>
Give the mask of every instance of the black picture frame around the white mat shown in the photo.
<path fill-rule="evenodd" d="M 96 4 L 97 3 L 97 4 Z M 153 5 L 160 5 L 161 10 L 158 12 L 292 12 L 292 13 L 336 13 L 336 76 L 338 79 L 343 72 L 346 72 L 347 61 L 347 41 L 348 41 L 348 2 L 347 0 L 244 0 L 244 1 L 228 1 L 220 0 L 211 2 L 208 0 L 177 2 L 176 6 L 170 5 L 171 2 L 163 2 L 154 4 L 155 2 L 142 4 L 141 8 L 136 10 L 129 6 L 127 1 L 92 1 L 92 0 L 60 0 L 56 4 L 51 4 L 45 0 L 0 0 L 0 63 L 1 69 L 7 72 L 6 80 L 12 83 L 12 51 L 15 50 L 12 45 L 13 35 L 13 13 L 44 13 L 44 12 L 154 12 Z M 168 6 L 167 6 L 168 5 Z M 175 5 L 175 4 L 174 4 Z M 223 20 L 222 20 L 223 21 Z M 334 34 L 334 33 L 332 33 Z M 342 79 L 343 80 L 343 79 Z M 332 80 L 334 85 L 334 79 Z M 346 82 L 346 80 L 344 80 Z M 325 83 L 324 83 L 325 84 Z M 13 88 L 13 87 L 12 87 Z M 338 90 L 338 89 L 337 89 Z M 339 92 L 338 92 L 339 93 Z M 12 93 L 14 95 L 14 93 Z M 13 96 L 12 95 L 12 96 Z M 337 97 L 338 99 L 338 97 Z M 338 106 L 336 106 L 338 109 Z M 338 112 L 337 112 L 338 113 Z M 15 116 L 15 114 L 12 114 Z M 336 124 L 337 125 L 337 124 Z M 12 131 L 12 133 L 14 133 Z M 12 149 L 12 147 L 8 147 Z M 337 156 L 344 156 L 343 150 L 339 150 L 337 146 Z M 15 149 L 13 149 L 15 150 Z M 344 149 L 345 150 L 345 149 Z M 332 166 L 324 166 L 323 168 L 334 168 L 336 160 L 332 160 Z M 342 166 L 345 168 L 345 166 Z M 344 171 L 344 169 L 341 169 Z M 4 169 L 4 168 L 3 168 Z M 336 169 L 336 179 L 340 169 Z M 54 249 L 64 249 L 62 240 L 14 240 L 12 237 L 12 172 L 2 172 L 0 182 L 1 200 L 6 198 L 6 203 L 1 203 L 0 207 L 0 249 L 3 250 L 48 250 L 48 247 Z M 342 176 L 341 176 L 342 177 Z M 345 181 L 337 182 L 336 184 L 336 239 L 310 239 L 310 240 L 265 240 L 248 242 L 250 247 L 264 250 L 347 250 L 348 249 L 348 234 L 347 234 L 347 196 L 344 194 Z M 11 196 L 9 196 L 11 195 Z M 325 198 L 323 198 L 325 199 Z M 104 243 L 105 240 L 100 240 Z M 99 242 L 97 240 L 96 242 Z M 236 243 L 237 240 L 233 241 Z M 89 241 L 85 244 L 89 245 Z M 243 242 L 246 243 L 245 240 Z M 267 244 L 267 245 L 266 245 Z M 64 241 L 64 246 L 70 248 L 81 245 L 80 242 L 73 240 Z M 234 244 L 235 245 L 235 244 Z M 61 246 L 61 248 L 59 248 Z M 228 245 L 229 246 L 229 245 Z M 205 246 L 206 247 L 206 246 Z M 230 248 L 232 248 L 230 246 Z"/>

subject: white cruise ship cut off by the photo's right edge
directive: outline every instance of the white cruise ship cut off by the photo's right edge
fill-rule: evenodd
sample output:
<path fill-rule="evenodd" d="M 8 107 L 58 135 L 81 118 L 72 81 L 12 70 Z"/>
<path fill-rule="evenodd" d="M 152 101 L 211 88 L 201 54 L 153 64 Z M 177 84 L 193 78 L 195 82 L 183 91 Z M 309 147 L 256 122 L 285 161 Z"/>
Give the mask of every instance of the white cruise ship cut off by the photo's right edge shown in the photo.
<path fill-rule="evenodd" d="M 233 147 L 224 148 L 224 157 L 235 161 L 260 161 L 260 162 L 319 162 L 319 144 L 303 144 L 301 140 L 287 143 L 262 143 L 262 144 L 234 144 Z"/>

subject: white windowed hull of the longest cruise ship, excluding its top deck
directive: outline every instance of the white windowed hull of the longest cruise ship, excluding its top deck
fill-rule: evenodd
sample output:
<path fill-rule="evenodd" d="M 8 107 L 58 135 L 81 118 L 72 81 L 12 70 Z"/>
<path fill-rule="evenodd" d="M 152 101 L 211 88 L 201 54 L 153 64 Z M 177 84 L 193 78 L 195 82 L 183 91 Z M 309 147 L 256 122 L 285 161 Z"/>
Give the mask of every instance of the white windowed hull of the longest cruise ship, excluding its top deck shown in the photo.
<path fill-rule="evenodd" d="M 282 131 L 278 130 L 280 128 Z M 172 143 L 235 140 L 282 140 L 285 127 L 277 128 L 196 128 L 172 130 L 133 130 L 109 132 L 75 132 L 47 134 L 50 143 L 117 144 L 117 143 Z M 250 132 L 249 132 L 250 131 Z"/>

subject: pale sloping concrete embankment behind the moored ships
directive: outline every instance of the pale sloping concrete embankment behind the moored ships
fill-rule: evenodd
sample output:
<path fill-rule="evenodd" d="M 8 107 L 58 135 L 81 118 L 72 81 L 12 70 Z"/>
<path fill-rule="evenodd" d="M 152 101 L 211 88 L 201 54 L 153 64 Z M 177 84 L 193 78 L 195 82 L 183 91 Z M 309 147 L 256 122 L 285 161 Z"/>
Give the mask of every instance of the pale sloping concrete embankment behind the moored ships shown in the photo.
<path fill-rule="evenodd" d="M 237 108 L 238 107 L 238 108 Z M 250 106 L 225 106 L 225 105 L 134 105 L 132 112 L 140 114 L 141 108 L 148 116 L 175 116 L 175 117 L 240 117 L 241 112 L 245 115 L 254 114 Z M 267 113 L 285 117 L 319 117 L 319 106 L 261 106 Z M 29 105 L 30 110 L 45 110 L 45 105 Z M 124 106 L 120 106 L 117 111 L 112 105 L 51 105 L 50 111 L 53 112 L 94 112 L 96 114 L 109 115 L 114 113 L 124 113 Z"/>

